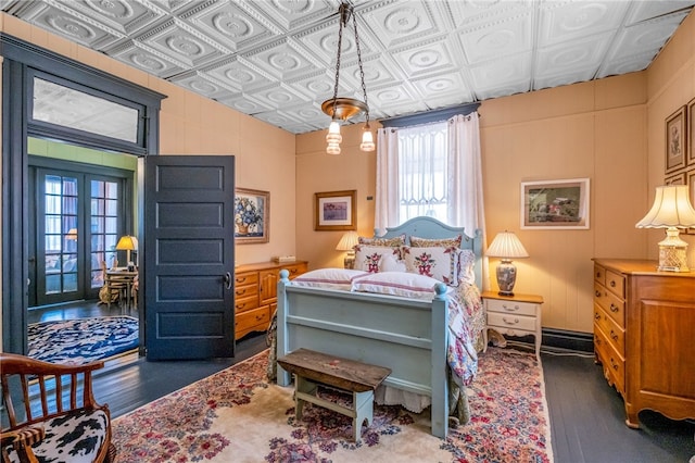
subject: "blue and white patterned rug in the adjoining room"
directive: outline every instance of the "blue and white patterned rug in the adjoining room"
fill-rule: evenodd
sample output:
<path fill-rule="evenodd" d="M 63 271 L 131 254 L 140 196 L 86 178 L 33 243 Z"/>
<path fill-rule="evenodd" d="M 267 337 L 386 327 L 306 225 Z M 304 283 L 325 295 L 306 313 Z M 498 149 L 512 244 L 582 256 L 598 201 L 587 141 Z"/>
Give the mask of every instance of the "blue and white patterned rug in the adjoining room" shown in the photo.
<path fill-rule="evenodd" d="M 28 326 L 29 356 L 81 365 L 119 355 L 138 347 L 138 318 L 99 316 L 41 322 Z"/>

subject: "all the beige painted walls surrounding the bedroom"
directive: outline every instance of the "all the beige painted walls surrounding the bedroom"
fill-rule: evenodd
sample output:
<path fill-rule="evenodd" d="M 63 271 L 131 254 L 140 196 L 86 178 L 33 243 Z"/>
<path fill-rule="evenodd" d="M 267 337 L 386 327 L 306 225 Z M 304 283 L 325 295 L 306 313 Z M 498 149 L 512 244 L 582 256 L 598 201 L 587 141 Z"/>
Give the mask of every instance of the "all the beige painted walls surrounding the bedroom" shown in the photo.
<path fill-rule="evenodd" d="M 238 246 L 238 263 L 294 253 L 314 268 L 342 265 L 341 234 L 313 229 L 318 191 L 356 189 L 358 232 L 371 234 L 376 162 L 357 149 L 359 126 L 344 130 L 343 154 L 329 157 L 323 130 L 294 137 L 12 16 L 0 22 L 8 34 L 167 95 L 161 152 L 236 155 L 237 185 L 270 191 L 271 204 L 270 242 Z M 634 224 L 664 182 L 664 121 L 694 97 L 691 14 L 646 72 L 482 103 L 488 233 L 514 230 L 527 247 L 516 289 L 543 296 L 543 326 L 592 330 L 591 258 L 656 259 L 662 233 Z M 520 229 L 521 182 L 574 177 L 591 179 L 591 229 Z M 694 237 L 685 239 L 695 267 Z"/>

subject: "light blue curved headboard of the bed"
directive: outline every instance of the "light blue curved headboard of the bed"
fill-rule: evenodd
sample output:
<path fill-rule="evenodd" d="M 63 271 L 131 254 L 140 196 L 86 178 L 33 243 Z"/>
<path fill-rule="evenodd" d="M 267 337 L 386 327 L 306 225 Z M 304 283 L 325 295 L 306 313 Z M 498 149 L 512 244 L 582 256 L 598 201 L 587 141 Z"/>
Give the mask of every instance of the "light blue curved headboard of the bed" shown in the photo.
<path fill-rule="evenodd" d="M 393 238 L 405 234 L 406 243 L 409 243 L 410 236 L 420 238 L 451 238 L 458 234 L 463 236 L 462 249 L 470 249 L 476 254 L 476 283 L 482 288 L 482 238 L 480 230 L 468 235 L 463 227 L 452 227 L 437 218 L 420 216 L 399 225 L 397 227 L 387 227 L 387 233 L 379 238 Z"/>

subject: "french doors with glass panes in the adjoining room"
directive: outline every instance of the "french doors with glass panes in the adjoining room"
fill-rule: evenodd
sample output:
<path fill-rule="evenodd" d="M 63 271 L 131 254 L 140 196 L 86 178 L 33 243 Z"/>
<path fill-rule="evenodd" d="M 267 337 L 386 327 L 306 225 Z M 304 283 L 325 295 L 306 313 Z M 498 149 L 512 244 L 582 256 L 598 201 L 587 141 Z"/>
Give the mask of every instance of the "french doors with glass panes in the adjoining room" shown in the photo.
<path fill-rule="evenodd" d="M 111 267 L 127 224 L 125 180 L 80 172 L 36 168 L 35 259 L 29 306 L 97 299 L 102 262 Z"/>

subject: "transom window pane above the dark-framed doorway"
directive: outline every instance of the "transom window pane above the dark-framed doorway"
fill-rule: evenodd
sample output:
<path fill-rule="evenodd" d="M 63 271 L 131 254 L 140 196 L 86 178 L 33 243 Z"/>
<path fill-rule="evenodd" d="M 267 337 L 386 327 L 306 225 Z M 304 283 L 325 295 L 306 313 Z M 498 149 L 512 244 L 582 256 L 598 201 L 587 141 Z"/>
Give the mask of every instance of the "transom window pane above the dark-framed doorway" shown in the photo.
<path fill-rule="evenodd" d="M 31 116 L 35 121 L 138 141 L 137 110 L 37 77 Z"/>

